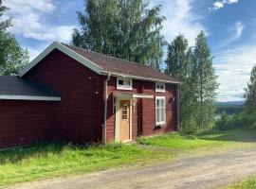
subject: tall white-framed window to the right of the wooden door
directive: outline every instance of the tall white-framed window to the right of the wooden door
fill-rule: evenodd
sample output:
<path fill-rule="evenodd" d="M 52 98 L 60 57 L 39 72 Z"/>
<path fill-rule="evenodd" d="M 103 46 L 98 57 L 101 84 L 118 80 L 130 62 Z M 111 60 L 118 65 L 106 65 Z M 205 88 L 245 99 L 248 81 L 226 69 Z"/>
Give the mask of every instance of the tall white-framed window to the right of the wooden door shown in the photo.
<path fill-rule="evenodd" d="M 166 124 L 166 112 L 165 112 L 165 97 L 155 96 L 155 120 L 156 126 L 162 126 Z"/>

